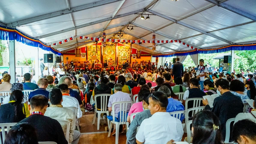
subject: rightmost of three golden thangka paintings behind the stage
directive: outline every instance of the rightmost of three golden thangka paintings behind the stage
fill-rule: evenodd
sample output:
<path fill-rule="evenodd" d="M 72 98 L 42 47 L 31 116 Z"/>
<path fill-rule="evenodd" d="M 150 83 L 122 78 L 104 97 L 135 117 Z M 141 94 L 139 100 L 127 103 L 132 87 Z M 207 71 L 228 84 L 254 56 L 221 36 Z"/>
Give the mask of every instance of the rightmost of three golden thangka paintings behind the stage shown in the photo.
<path fill-rule="evenodd" d="M 118 65 L 122 65 L 127 60 L 130 62 L 130 46 L 118 46 Z"/>

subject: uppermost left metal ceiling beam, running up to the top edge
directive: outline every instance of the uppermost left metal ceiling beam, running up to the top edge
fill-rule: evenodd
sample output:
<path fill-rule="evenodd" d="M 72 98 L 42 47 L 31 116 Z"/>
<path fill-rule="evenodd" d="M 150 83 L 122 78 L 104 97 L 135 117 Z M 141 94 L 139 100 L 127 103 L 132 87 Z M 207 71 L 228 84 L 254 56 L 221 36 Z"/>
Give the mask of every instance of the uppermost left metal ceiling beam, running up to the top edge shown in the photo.
<path fill-rule="evenodd" d="M 64 15 L 64 14 L 73 13 L 73 12 L 77 12 L 77 11 L 80 11 L 80 10 L 86 10 L 86 9 L 89 9 L 89 8 L 92 8 L 92 7 L 98 7 L 98 6 L 105 5 L 105 4 L 111 4 L 111 3 L 116 2 L 116 1 L 122 1 L 122 0 L 96 1 L 96 2 L 93 2 L 93 3 L 89 3 L 89 4 L 85 4 L 85 5 L 81 5 L 81 6 L 77 6 L 77 7 L 72 7 L 72 8 L 70 8 L 70 10 L 68 10 L 68 9 L 60 10 L 60 11 L 56 11 L 56 12 L 53 12 L 53 13 L 47 13 L 47 14 L 44 14 L 44 15 L 41 15 L 41 16 L 35 16 L 35 17 L 32 17 L 32 18 L 19 20 L 17 22 L 11 22 L 11 23 L 8 23 L 7 26 L 8 27 L 21 26 L 21 25 L 25 25 L 25 24 L 28 24 L 28 23 L 31 23 L 31 22 L 40 21 L 40 20 L 43 20 L 43 19 L 49 19 L 49 18 L 52 18 L 52 17 L 55 17 L 55 16 L 61 16 L 61 15 Z"/>

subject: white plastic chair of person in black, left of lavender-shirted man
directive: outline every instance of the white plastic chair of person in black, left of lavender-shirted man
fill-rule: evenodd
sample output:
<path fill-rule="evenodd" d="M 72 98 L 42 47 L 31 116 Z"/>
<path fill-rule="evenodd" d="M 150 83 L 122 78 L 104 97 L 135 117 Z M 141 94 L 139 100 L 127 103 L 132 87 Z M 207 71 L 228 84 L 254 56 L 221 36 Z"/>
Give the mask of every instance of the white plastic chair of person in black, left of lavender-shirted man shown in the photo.
<path fill-rule="evenodd" d="M 92 125 L 95 123 L 96 114 L 98 113 L 98 123 L 97 123 L 97 130 L 100 130 L 100 119 L 101 119 L 101 113 L 106 113 L 107 116 L 109 116 L 109 111 L 107 110 L 108 101 L 107 99 L 110 97 L 111 94 L 101 94 L 101 95 L 95 95 L 95 110 L 94 110 L 94 118 Z M 97 110 L 97 97 L 101 98 L 101 110 Z M 109 128 L 109 119 L 107 119 L 107 126 Z"/>

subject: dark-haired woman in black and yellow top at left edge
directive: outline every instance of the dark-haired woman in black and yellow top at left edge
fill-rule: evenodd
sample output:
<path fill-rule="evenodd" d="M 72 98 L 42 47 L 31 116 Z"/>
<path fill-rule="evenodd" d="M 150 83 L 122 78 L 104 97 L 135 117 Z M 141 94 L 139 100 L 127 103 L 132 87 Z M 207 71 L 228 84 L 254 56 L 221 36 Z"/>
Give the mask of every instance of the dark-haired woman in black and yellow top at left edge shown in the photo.
<path fill-rule="evenodd" d="M 20 122 L 30 115 L 28 105 L 22 104 L 24 95 L 19 89 L 14 90 L 10 102 L 0 107 L 0 123 Z"/>

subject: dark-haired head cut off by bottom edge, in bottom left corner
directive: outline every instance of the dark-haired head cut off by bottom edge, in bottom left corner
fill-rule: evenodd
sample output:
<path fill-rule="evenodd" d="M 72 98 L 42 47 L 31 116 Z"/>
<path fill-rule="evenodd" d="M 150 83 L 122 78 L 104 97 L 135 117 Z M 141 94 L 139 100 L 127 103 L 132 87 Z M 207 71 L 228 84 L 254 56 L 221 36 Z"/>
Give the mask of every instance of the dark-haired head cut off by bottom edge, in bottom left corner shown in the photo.
<path fill-rule="evenodd" d="M 21 123 L 12 127 L 6 136 L 5 144 L 38 144 L 37 133 L 32 125 Z"/>

